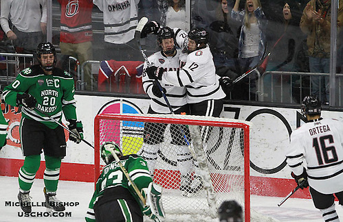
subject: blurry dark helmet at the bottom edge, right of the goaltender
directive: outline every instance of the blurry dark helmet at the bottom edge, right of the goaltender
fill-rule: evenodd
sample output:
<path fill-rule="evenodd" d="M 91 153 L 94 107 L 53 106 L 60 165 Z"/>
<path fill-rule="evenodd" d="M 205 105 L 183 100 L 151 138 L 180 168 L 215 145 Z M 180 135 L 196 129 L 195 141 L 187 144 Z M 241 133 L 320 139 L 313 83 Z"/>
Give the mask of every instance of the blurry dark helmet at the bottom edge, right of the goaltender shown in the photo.
<path fill-rule="evenodd" d="M 242 207 L 234 200 L 223 201 L 218 209 L 219 221 L 221 222 L 242 222 Z"/>

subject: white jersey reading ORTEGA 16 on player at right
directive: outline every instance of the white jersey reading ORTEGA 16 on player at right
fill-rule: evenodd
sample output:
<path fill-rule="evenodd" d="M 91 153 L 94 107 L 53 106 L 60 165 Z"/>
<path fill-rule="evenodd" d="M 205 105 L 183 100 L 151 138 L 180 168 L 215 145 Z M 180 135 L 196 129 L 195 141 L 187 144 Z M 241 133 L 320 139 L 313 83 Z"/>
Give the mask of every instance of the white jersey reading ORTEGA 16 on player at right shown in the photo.
<path fill-rule="evenodd" d="M 320 193 L 343 191 L 342 144 L 342 122 L 317 119 L 305 123 L 291 134 L 287 164 L 296 175 L 307 166 L 309 185 Z"/>

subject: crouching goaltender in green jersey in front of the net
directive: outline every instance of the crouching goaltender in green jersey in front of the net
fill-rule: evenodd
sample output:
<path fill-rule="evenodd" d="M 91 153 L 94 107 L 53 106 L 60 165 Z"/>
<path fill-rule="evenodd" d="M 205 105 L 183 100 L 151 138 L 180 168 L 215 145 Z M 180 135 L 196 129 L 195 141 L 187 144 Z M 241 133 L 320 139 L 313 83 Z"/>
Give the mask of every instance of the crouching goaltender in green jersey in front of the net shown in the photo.
<path fill-rule="evenodd" d="M 144 205 L 132 184 L 115 161 L 111 151 L 119 157 L 124 169 L 146 199 Z M 162 187 L 154 184 L 146 161 L 136 154 L 123 156 L 120 147 L 114 142 L 104 142 L 101 158 L 107 164 L 96 182 L 96 190 L 89 202 L 87 222 L 131 221 L 142 222 L 143 214 L 154 221 L 164 217 L 162 207 Z"/>

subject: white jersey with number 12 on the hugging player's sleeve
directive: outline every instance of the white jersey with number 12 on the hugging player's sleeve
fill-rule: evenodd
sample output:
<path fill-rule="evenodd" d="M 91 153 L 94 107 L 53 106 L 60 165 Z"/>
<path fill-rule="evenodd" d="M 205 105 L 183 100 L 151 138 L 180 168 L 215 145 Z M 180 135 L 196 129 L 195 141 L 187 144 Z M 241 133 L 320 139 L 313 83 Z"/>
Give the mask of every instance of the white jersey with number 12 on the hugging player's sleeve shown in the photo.
<path fill-rule="evenodd" d="M 181 29 L 174 29 L 177 45 L 184 47 L 187 33 Z M 199 103 L 208 99 L 223 99 L 225 93 L 220 84 L 219 77 L 212 59 L 210 47 L 189 53 L 186 64 L 177 71 L 166 71 L 162 75 L 164 84 L 186 86 L 187 102 Z"/>

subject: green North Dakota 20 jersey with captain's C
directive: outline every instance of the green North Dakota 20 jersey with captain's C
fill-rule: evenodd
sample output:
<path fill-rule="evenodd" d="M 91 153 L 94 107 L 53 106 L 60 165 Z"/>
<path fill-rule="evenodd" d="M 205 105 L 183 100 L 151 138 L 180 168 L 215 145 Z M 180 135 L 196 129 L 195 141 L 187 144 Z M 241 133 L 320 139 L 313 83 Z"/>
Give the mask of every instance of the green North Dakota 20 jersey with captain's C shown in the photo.
<path fill-rule="evenodd" d="M 16 103 L 18 93 L 28 93 L 37 100 L 34 110 L 22 108 L 23 117 L 44 123 L 51 129 L 58 125 L 47 116 L 60 121 L 63 112 L 65 119 L 76 120 L 74 79 L 62 69 L 54 68 L 52 75 L 46 75 L 39 65 L 23 69 L 14 82 L 4 88 L 5 103 L 19 106 Z"/>

